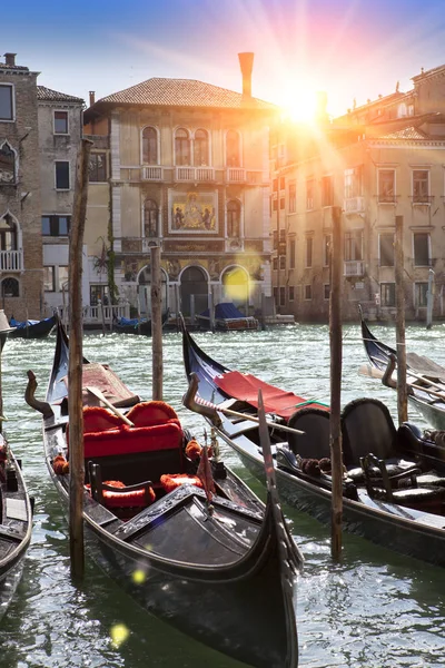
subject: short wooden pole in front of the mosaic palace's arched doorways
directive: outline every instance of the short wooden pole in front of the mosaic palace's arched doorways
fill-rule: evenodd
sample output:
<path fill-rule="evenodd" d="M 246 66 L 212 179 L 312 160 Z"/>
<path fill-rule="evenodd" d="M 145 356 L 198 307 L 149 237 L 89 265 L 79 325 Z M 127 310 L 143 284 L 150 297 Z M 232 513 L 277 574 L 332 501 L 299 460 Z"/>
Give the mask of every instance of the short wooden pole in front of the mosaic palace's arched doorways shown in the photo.
<path fill-rule="evenodd" d="M 162 400 L 162 291 L 160 274 L 160 248 L 151 246 L 151 346 L 152 346 L 152 399 Z"/>

